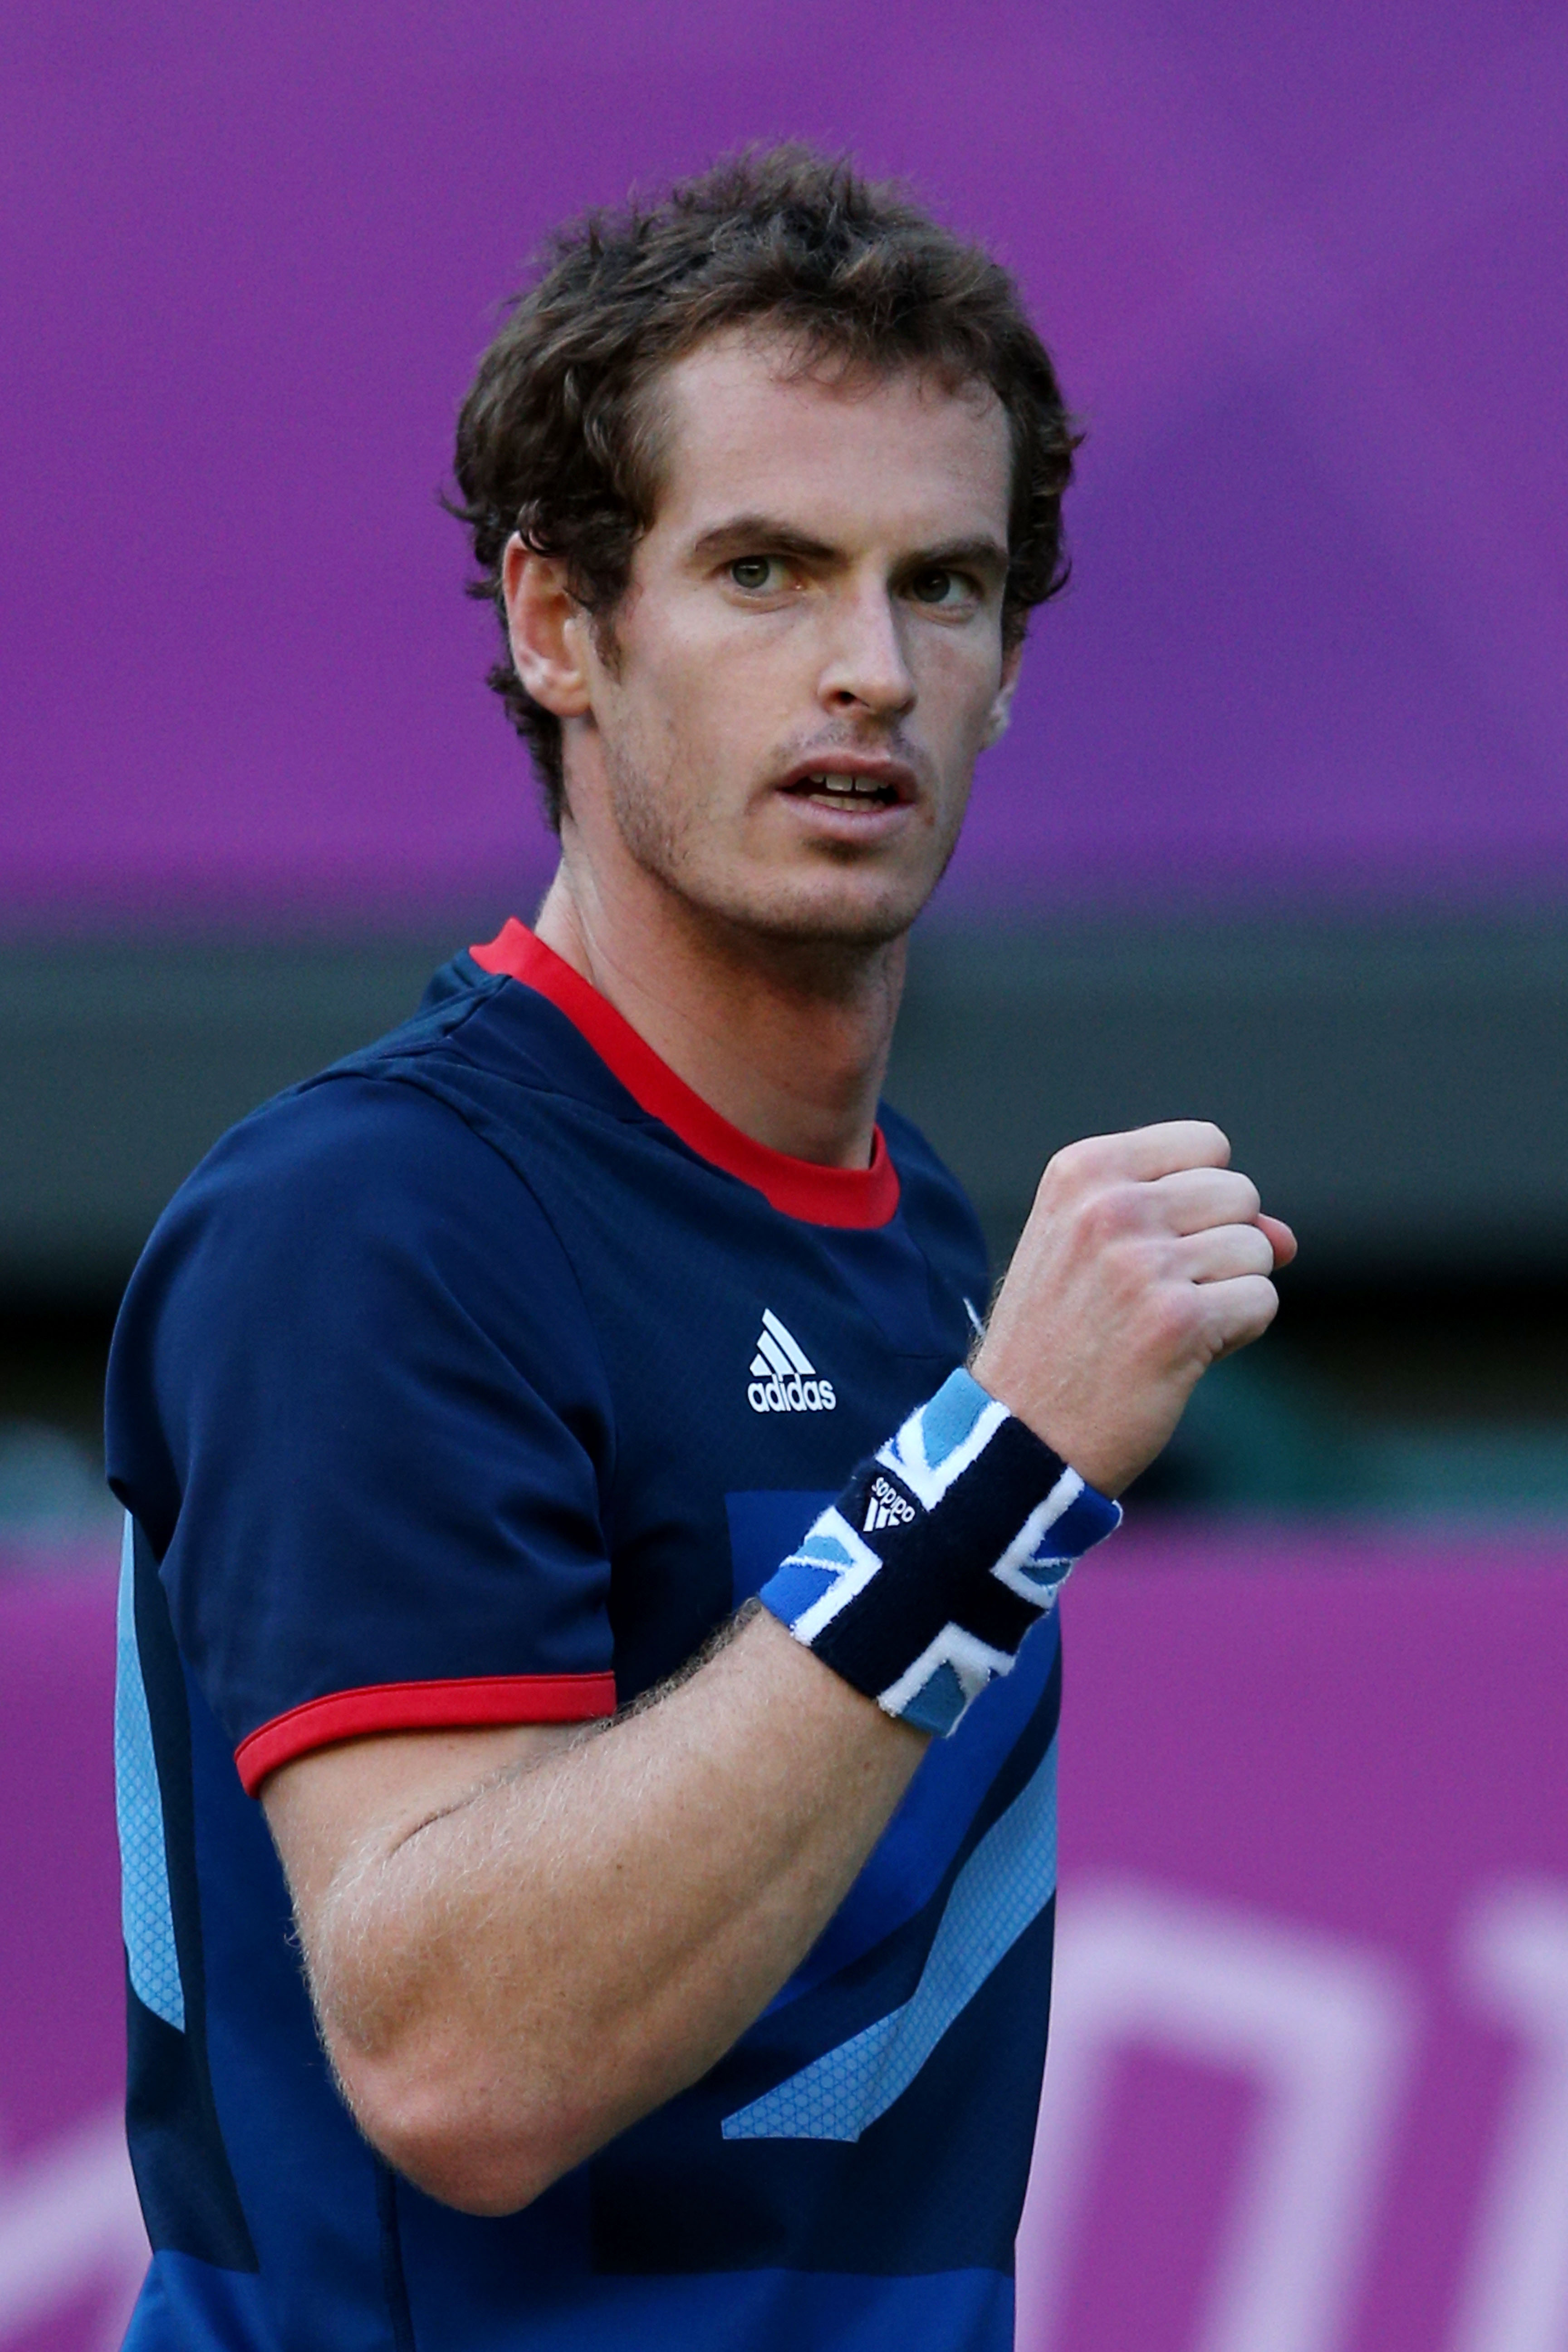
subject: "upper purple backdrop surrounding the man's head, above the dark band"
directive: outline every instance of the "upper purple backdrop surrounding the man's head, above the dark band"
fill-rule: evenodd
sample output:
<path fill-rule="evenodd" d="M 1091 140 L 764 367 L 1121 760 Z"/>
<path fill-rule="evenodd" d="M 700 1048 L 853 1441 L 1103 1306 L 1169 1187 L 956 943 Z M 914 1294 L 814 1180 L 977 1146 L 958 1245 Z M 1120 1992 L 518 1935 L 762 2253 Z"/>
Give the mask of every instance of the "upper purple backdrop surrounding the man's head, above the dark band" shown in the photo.
<path fill-rule="evenodd" d="M 454 409 L 550 221 L 776 134 L 994 240 L 1091 428 L 954 906 L 1561 901 L 1561 0 L 12 0 L 12 924 L 527 903 Z"/>

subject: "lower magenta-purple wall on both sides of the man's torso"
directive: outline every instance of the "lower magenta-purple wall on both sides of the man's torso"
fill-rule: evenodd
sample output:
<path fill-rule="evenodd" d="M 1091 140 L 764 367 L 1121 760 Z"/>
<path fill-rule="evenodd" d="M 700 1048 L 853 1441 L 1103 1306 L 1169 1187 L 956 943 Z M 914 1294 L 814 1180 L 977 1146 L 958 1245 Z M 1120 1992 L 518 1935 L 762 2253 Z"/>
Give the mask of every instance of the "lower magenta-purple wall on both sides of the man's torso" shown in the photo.
<path fill-rule="evenodd" d="M 1126 1550 L 1121 1550 L 1126 1545 Z M 1406 2027 L 1387 2133 L 1352 2216 L 1338 2324 L 1215 2336 L 1215 2279 L 1255 2185 L 1274 2089 L 1124 2032 L 1079 2114 L 1051 2274 L 1025 2218 L 1020 2352 L 1521 2352 L 1472 2333 L 1509 2154 L 1568 2279 L 1568 1557 L 1561 1538 L 1128 1534 L 1065 1602 L 1060 1987 L 1046 2129 L 1067 2112 L 1107 1900 L 1199 1919 L 1215 1966 L 1262 1938 L 1371 1976 Z M 0 2345 L 108 2352 L 139 2260 L 115 2152 L 120 1950 L 108 1712 L 113 1588 L 0 1583 Z M 1544 1912 L 1537 2027 L 1476 1980 L 1488 1915 Z M 1267 1971 L 1265 1971 L 1267 1973 Z M 1542 2067 L 1544 2056 L 1544 2067 Z M 1530 2093 L 1542 2147 L 1519 2138 Z M 1053 2110 L 1051 2100 L 1058 2100 Z M 1556 2150 L 1556 2154 L 1552 2154 Z M 1556 2164 L 1556 2171 L 1552 2166 Z M 1041 2178 L 1041 2176 L 1037 2176 Z M 1044 2197 L 1041 2197 L 1044 2201 Z M 1056 2204 L 1056 2199 L 1053 2199 Z M 129 2216 L 129 2220 L 127 2220 Z M 1335 2246 L 1328 2249 L 1335 2253 Z M 1046 2286 L 1053 2286 L 1046 2305 Z M 1034 2314 L 1030 2319 L 1027 2314 Z"/>

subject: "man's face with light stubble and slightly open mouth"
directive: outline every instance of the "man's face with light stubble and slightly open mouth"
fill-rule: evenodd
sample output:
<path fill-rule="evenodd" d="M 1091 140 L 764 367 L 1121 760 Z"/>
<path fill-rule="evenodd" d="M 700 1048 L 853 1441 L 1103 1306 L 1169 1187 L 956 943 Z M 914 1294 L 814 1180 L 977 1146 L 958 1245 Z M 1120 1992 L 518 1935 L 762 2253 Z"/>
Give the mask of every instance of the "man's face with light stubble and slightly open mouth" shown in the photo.
<path fill-rule="evenodd" d="M 743 929 L 896 938 L 1011 687 L 1004 412 L 912 372 L 799 374 L 743 334 L 661 402 L 658 515 L 569 724 L 571 826 Z"/>

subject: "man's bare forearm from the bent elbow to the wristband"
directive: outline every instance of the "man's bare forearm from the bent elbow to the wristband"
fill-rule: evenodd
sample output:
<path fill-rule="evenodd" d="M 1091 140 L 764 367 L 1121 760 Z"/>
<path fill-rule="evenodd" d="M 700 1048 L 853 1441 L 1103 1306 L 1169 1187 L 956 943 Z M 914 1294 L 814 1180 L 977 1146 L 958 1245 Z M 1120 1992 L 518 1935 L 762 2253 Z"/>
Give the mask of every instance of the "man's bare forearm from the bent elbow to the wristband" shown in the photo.
<path fill-rule="evenodd" d="M 766 2006 L 924 1745 L 757 1616 L 656 1705 L 369 1839 L 301 1915 L 371 2140 L 451 2204 L 527 2204 Z"/>

